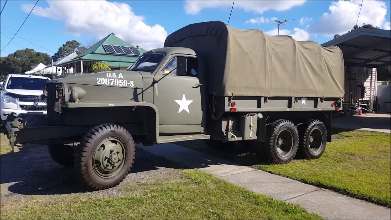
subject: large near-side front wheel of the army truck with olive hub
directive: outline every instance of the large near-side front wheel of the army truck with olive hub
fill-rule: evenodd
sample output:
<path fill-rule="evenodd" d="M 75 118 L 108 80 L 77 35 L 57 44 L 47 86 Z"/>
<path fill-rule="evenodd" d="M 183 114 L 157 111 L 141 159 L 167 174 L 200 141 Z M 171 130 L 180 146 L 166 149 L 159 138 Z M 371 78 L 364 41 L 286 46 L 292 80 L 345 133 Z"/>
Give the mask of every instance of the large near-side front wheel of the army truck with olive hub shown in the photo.
<path fill-rule="evenodd" d="M 135 159 L 135 143 L 117 124 L 102 124 L 87 132 L 75 153 L 79 178 L 94 190 L 113 188 L 129 174 Z"/>

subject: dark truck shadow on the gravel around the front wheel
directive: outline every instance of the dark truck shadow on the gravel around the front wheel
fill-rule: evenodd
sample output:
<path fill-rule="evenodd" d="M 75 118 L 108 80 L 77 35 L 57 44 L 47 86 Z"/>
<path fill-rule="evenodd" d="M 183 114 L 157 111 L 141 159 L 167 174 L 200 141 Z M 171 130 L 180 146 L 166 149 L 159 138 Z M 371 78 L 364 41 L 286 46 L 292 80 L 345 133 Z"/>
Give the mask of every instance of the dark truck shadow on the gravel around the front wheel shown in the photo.
<path fill-rule="evenodd" d="M 140 148 L 136 149 L 132 173 L 148 175 L 145 171 L 160 168 L 188 169 L 181 164 L 153 155 Z M 46 146 L 27 145 L 18 153 L 1 155 L 0 183 L 2 195 L 8 191 L 21 195 L 58 195 L 90 191 L 79 182 L 72 168 L 63 167 L 52 160 Z M 124 180 L 126 182 L 126 180 Z M 123 183 L 124 183 L 123 182 Z M 123 184 L 122 183 L 122 184 Z"/>

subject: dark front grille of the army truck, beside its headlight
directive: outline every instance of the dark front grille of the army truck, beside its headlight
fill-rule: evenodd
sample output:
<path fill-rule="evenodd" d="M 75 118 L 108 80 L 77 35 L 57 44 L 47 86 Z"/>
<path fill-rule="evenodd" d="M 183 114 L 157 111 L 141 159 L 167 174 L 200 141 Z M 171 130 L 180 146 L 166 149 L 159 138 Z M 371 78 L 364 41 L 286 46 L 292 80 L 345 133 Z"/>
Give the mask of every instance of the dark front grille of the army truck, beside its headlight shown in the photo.
<path fill-rule="evenodd" d="M 47 118 L 56 123 L 59 113 L 54 111 L 54 102 L 58 102 L 61 96 L 65 95 L 63 83 L 46 83 L 43 88 L 43 95 L 46 96 Z"/>

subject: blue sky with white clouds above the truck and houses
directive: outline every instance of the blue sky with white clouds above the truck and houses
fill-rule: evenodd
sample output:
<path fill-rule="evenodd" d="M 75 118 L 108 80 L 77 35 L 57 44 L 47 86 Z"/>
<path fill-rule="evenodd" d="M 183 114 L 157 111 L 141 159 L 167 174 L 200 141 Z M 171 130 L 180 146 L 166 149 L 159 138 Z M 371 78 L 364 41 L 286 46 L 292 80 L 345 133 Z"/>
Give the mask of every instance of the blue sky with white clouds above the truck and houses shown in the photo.
<path fill-rule="evenodd" d="M 5 5 L 0 24 L 1 56 L 24 48 L 53 55 L 68 40 L 77 40 L 83 44 L 94 38 L 100 39 L 111 32 L 146 49 L 161 47 L 167 34 L 190 23 L 213 20 L 227 22 L 232 5 L 232 1 L 40 0 L 18 32 L 18 36 L 15 36 L 13 42 L 4 49 L 35 2 L 9 0 Z M 1 0 L 0 3 L 2 9 L 5 0 Z M 361 1 L 237 0 L 229 25 L 239 29 L 261 29 L 267 34 L 276 35 L 276 31 L 273 30 L 276 26 L 270 22 L 271 18 L 303 18 L 302 21 L 307 22 L 287 22 L 285 26 L 280 27 L 280 34 L 290 34 L 296 40 L 324 43 L 331 40 L 335 33 L 343 33 L 352 28 L 357 21 L 360 4 Z M 390 1 L 364 1 L 359 25 L 365 22 L 389 29 L 389 18 Z"/>

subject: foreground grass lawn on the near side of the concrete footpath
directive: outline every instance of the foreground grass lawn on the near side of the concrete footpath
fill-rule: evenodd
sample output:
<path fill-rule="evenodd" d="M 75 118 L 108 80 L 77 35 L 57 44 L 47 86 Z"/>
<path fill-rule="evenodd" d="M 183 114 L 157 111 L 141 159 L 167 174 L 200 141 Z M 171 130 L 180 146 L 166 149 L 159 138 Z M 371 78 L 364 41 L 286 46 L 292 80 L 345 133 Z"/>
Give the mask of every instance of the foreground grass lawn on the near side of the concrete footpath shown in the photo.
<path fill-rule="evenodd" d="M 321 219 L 199 170 L 122 184 L 120 195 L 35 195 L 1 205 L 1 219 Z"/>

